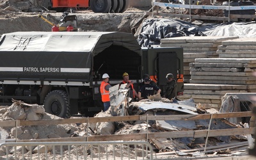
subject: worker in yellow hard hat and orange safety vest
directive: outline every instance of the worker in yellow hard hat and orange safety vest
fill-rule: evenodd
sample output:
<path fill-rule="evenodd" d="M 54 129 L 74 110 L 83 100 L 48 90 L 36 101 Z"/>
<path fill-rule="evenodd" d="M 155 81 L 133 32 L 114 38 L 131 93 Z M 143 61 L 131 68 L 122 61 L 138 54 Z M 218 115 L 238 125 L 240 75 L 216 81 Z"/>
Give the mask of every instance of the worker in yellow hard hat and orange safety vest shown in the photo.
<path fill-rule="evenodd" d="M 127 72 L 124 72 L 123 74 L 123 81 L 120 83 L 121 84 L 127 84 L 125 88 L 130 88 L 129 91 L 129 97 L 131 97 L 131 101 L 134 102 L 136 101 L 136 98 L 138 98 L 138 93 L 136 92 L 136 90 L 134 90 L 134 86 L 133 86 L 133 81 L 129 80 L 129 74 Z"/>

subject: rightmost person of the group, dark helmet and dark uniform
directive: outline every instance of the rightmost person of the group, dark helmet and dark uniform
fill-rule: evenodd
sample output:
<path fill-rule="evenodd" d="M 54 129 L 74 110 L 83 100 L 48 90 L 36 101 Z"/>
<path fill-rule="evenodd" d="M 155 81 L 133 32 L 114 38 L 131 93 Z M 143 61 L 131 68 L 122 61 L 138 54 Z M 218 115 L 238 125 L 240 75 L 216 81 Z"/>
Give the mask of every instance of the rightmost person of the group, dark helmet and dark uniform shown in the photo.
<path fill-rule="evenodd" d="M 173 74 L 167 74 L 166 79 L 167 82 L 164 97 L 171 100 L 177 96 L 177 82 L 173 79 Z"/>

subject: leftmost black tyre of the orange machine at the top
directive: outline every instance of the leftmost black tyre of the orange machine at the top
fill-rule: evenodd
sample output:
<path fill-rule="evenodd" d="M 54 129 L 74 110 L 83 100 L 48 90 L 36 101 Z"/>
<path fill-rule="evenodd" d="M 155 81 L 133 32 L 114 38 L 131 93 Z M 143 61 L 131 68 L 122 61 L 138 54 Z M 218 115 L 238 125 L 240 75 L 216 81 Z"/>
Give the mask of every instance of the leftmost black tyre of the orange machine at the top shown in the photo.
<path fill-rule="evenodd" d="M 108 13 L 111 9 L 111 0 L 91 0 L 90 7 L 95 13 Z"/>

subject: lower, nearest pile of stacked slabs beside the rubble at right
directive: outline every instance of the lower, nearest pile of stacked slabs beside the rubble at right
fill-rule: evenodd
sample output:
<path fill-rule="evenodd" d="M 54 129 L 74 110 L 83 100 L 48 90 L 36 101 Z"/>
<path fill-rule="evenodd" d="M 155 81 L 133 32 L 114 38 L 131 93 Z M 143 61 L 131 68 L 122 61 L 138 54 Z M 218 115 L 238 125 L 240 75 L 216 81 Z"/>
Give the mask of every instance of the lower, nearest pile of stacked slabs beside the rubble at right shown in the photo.
<path fill-rule="evenodd" d="M 180 99 L 220 108 L 225 93 L 256 92 L 256 58 L 196 58 L 189 66 L 190 84 Z"/>

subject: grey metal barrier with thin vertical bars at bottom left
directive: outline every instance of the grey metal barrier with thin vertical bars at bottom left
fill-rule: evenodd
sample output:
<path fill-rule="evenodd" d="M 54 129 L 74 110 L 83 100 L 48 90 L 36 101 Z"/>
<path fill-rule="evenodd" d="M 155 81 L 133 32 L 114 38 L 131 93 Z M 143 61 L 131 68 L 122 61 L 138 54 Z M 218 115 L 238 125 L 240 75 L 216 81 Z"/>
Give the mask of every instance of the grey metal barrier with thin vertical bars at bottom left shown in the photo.
<path fill-rule="evenodd" d="M 4 142 L 0 152 L 3 159 L 156 159 L 146 141 Z"/>

